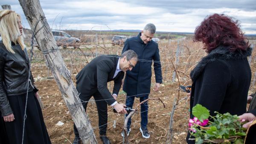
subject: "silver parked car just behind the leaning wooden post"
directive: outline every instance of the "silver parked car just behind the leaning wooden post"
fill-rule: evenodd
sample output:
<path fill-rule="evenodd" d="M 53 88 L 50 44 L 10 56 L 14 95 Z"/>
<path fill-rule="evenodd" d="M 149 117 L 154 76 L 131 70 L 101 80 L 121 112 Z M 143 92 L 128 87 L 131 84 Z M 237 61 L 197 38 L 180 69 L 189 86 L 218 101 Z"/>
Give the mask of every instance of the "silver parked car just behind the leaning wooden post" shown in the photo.
<path fill-rule="evenodd" d="M 62 46 L 64 49 L 66 49 L 70 45 L 72 45 L 75 49 L 79 47 L 79 38 L 71 37 L 66 32 L 60 30 L 52 30 L 52 34 L 57 43 L 57 46 Z M 36 40 L 34 40 L 33 46 L 36 46 L 38 48 Z"/>

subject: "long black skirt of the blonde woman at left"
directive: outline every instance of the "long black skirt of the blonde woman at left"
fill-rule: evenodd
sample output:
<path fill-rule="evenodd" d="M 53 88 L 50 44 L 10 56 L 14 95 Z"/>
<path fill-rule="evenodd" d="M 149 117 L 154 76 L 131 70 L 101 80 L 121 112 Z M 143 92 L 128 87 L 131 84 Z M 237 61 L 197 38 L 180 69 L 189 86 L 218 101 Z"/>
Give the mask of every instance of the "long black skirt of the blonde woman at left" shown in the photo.
<path fill-rule="evenodd" d="M 4 122 L 9 144 L 21 144 L 26 93 L 8 96 L 15 120 Z M 28 93 L 23 144 L 51 144 L 41 107 L 34 92 Z"/>

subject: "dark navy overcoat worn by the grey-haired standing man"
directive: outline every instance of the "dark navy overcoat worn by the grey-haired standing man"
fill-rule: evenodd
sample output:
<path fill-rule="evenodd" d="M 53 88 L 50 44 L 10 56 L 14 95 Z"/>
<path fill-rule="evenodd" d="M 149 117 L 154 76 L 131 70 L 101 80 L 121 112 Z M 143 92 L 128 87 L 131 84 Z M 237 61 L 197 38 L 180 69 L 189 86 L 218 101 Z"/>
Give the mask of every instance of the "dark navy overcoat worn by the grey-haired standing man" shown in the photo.
<path fill-rule="evenodd" d="M 140 36 L 141 33 L 137 37 L 128 38 L 122 50 L 122 53 L 128 49 L 134 50 L 139 58 L 136 66 L 131 71 L 126 72 L 123 85 L 123 90 L 128 95 L 137 95 L 137 97 L 143 97 L 148 95 L 147 93 L 150 93 L 152 60 L 154 60 L 156 83 L 162 83 L 158 45 L 153 40 L 145 44 Z"/>

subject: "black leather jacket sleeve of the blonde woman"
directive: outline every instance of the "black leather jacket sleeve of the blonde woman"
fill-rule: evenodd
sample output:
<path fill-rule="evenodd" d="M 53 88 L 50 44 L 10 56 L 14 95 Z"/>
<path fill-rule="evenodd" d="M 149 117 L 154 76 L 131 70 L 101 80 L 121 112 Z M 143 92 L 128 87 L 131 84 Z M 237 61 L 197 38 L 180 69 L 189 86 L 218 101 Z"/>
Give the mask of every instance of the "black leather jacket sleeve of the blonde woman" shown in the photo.
<path fill-rule="evenodd" d="M 6 91 L 3 87 L 3 68 L 4 68 L 4 58 L 3 55 L 0 54 L 0 110 L 2 116 L 10 115 L 13 113 L 12 107 L 9 104 Z"/>

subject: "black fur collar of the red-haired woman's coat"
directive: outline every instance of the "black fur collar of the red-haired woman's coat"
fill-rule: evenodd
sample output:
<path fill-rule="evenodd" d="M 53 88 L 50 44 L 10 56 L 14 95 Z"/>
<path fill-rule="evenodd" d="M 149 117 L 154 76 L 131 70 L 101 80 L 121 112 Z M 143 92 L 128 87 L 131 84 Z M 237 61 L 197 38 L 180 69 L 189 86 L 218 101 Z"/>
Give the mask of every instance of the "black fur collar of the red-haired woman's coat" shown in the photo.
<path fill-rule="evenodd" d="M 229 59 L 244 59 L 250 56 L 252 53 L 252 48 L 248 48 L 246 51 L 241 51 L 237 49 L 235 52 L 230 52 L 228 47 L 226 46 L 218 46 L 216 49 L 213 49 L 207 56 L 203 57 L 199 63 L 195 66 L 195 68 L 190 72 L 190 77 L 192 82 L 198 78 L 201 72 L 204 71 L 204 67 L 209 62 L 213 62 L 215 60 L 229 60 Z"/>

